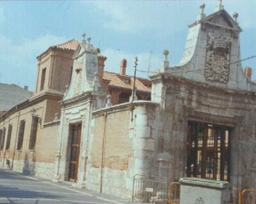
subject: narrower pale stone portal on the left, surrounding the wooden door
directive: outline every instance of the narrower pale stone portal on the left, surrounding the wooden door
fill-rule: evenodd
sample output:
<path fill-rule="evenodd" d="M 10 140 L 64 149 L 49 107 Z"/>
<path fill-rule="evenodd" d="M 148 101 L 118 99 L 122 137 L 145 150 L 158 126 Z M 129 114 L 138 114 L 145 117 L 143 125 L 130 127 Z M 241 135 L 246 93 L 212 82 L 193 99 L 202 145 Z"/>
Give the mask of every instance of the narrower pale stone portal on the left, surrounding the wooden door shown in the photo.
<path fill-rule="evenodd" d="M 86 161 L 89 154 L 90 115 L 92 110 L 102 108 L 105 100 L 104 90 L 98 80 L 97 54 L 97 50 L 90 43 L 86 43 L 86 40 L 79 43 L 74 54 L 72 80 L 61 101 L 61 126 L 55 177 L 60 180 L 74 179 L 80 186 L 84 186 Z M 79 139 L 76 138 L 76 141 L 79 140 L 76 144 L 77 149 L 73 145 L 71 132 L 72 125 L 76 124 L 81 124 Z M 73 151 L 76 151 L 74 156 Z M 73 164 L 76 165 L 74 166 L 75 175 L 71 177 L 70 165 Z"/>

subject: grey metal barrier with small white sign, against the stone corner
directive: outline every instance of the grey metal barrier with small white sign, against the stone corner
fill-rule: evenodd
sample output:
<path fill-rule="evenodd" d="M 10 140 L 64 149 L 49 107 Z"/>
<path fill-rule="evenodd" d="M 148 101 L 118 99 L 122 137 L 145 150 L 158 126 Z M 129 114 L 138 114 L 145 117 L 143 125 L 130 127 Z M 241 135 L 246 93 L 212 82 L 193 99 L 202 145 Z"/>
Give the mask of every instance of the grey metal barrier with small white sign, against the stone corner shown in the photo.
<path fill-rule="evenodd" d="M 168 201 L 168 182 L 162 177 L 134 175 L 132 201 Z"/>

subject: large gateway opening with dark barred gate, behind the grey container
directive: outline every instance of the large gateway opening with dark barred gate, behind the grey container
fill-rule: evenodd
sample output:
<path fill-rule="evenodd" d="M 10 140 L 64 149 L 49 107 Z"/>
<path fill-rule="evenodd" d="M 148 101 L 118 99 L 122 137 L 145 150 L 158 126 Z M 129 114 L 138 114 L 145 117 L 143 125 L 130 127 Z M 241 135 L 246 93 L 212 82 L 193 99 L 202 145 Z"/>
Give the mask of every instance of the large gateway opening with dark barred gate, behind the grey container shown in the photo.
<path fill-rule="evenodd" d="M 230 128 L 189 122 L 187 177 L 229 181 Z"/>

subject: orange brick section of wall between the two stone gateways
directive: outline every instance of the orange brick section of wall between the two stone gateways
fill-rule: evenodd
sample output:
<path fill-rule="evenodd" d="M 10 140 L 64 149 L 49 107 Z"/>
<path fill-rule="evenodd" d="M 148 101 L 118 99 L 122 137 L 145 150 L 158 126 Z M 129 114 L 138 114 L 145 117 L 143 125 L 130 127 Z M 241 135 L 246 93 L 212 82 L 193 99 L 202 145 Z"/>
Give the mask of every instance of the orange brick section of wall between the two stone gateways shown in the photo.
<path fill-rule="evenodd" d="M 104 167 L 127 170 L 128 159 L 132 157 L 132 139 L 129 138 L 129 111 L 109 113 L 106 119 L 106 145 Z M 93 134 L 92 166 L 100 168 L 102 163 L 102 142 L 104 116 L 95 118 Z"/>

